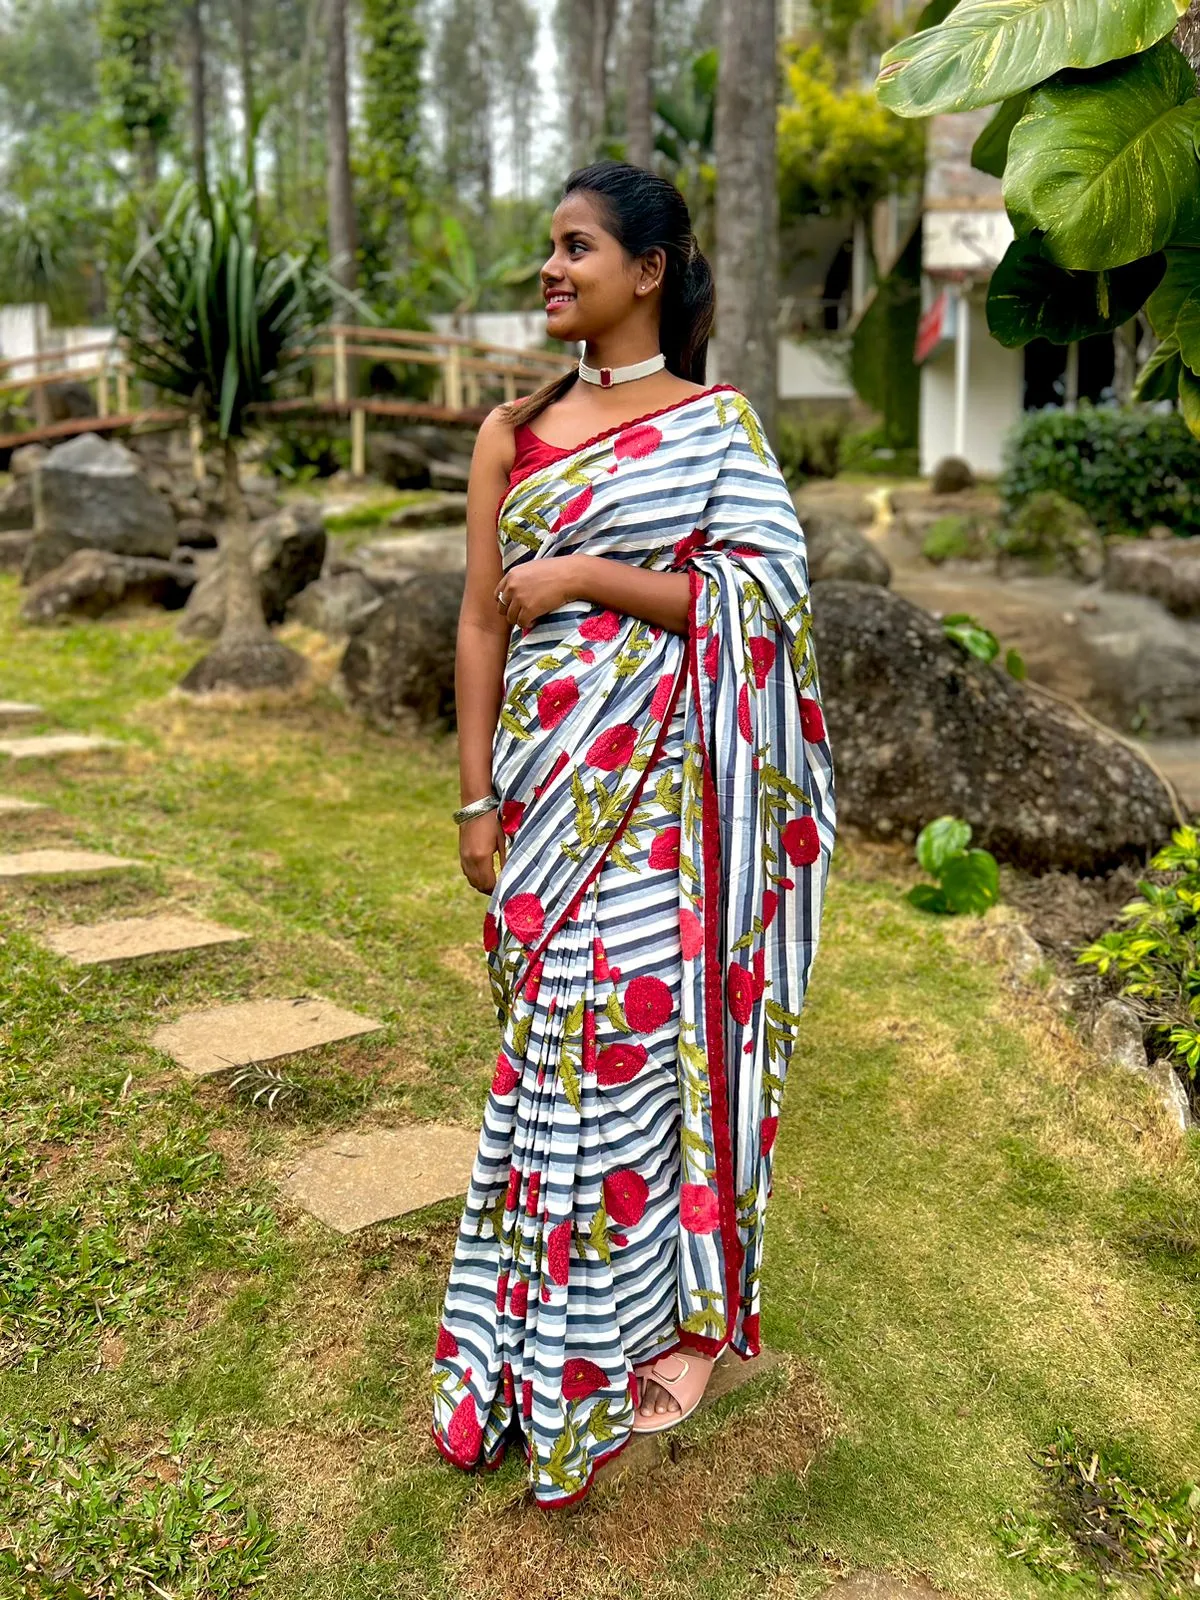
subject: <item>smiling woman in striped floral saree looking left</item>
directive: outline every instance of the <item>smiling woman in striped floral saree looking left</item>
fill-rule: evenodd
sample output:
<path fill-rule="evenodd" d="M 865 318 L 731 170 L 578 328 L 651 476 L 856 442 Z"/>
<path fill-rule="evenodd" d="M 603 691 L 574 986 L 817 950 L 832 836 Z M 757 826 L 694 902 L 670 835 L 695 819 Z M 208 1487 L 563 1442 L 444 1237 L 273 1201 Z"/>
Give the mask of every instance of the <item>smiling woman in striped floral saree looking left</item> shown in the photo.
<path fill-rule="evenodd" d="M 518 1430 L 565 1506 L 758 1352 L 835 805 L 803 534 L 749 402 L 704 386 L 683 198 L 582 168 L 552 243 L 546 328 L 586 354 L 488 416 L 467 494 L 456 819 L 504 1032 L 432 1432 L 494 1467 Z"/>

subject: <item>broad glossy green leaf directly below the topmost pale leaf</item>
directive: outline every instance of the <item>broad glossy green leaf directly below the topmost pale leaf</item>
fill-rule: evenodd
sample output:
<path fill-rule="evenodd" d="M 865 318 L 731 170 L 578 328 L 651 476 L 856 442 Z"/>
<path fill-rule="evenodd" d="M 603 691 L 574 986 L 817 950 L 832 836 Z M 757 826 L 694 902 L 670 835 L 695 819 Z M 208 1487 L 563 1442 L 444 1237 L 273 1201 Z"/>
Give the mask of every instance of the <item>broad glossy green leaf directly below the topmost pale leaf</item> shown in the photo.
<path fill-rule="evenodd" d="M 1013 128 L 1005 203 L 1064 267 L 1150 256 L 1200 224 L 1195 74 L 1171 43 L 1035 90 Z"/>

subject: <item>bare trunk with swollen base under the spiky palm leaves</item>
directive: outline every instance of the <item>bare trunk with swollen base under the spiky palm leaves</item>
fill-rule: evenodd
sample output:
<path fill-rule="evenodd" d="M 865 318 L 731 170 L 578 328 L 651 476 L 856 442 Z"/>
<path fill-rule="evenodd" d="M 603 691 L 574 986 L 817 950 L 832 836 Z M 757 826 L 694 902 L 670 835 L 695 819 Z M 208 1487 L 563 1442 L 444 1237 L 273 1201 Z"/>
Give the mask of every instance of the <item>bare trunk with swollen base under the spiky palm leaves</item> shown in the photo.
<path fill-rule="evenodd" d="M 262 594 L 250 560 L 250 528 L 237 445 L 232 438 L 224 446 L 224 502 L 221 573 L 226 614 L 221 637 L 181 678 L 179 688 L 194 694 L 213 690 L 291 688 L 307 677 L 309 662 L 272 635 L 262 614 Z"/>

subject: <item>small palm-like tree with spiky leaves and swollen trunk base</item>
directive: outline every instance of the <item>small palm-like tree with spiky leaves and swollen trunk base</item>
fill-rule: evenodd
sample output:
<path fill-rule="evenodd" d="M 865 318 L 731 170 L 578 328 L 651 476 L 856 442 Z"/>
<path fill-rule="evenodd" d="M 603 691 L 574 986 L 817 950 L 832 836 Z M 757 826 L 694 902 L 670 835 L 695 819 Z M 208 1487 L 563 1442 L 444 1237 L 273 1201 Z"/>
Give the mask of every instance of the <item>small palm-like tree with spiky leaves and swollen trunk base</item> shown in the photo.
<path fill-rule="evenodd" d="M 250 408 L 307 365 L 306 347 L 328 320 L 331 291 L 312 254 L 259 248 L 254 197 L 237 178 L 226 179 L 208 206 L 195 184 L 184 184 L 125 272 L 115 322 L 134 370 L 178 395 L 224 450 L 226 618 L 211 653 L 181 688 L 285 688 L 307 672 L 304 656 L 282 645 L 262 614 L 237 442 Z"/>

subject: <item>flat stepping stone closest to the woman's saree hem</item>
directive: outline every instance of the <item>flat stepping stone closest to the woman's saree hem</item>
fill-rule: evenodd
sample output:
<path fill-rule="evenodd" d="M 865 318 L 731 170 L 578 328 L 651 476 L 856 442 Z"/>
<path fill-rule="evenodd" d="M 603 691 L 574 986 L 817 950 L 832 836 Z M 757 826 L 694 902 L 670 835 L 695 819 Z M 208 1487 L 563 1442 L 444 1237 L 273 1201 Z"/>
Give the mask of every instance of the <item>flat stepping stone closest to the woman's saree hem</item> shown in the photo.
<path fill-rule="evenodd" d="M 282 1181 L 288 1198 L 339 1234 L 466 1195 L 477 1128 L 414 1123 L 339 1133 Z"/>

